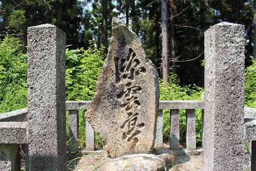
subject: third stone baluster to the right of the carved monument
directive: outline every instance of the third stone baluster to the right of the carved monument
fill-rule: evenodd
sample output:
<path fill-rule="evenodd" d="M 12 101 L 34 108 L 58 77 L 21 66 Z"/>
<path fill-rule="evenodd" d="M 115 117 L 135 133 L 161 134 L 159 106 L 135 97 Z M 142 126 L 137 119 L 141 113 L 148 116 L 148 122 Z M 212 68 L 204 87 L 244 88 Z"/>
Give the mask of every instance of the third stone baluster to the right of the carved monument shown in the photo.
<path fill-rule="evenodd" d="M 195 109 L 186 110 L 186 126 L 186 148 L 188 149 L 188 151 L 194 151 L 197 149 Z"/>

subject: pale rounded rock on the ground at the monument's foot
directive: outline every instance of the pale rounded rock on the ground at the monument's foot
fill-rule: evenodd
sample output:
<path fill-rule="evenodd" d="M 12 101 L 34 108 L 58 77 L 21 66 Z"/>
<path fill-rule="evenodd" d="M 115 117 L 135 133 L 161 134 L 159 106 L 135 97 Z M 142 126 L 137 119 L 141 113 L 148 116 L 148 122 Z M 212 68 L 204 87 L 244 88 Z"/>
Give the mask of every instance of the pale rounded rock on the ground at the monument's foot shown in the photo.
<path fill-rule="evenodd" d="M 153 154 L 125 155 L 100 163 L 100 171 L 164 171 L 165 161 Z"/>

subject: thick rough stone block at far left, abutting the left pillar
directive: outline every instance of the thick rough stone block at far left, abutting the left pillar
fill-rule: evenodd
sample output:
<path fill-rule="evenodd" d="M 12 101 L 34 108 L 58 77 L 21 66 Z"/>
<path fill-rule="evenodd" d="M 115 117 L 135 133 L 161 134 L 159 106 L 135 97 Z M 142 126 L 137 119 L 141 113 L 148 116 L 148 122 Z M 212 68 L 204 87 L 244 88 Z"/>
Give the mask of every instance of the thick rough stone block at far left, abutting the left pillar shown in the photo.
<path fill-rule="evenodd" d="M 0 143 L 28 142 L 28 122 L 0 122 Z"/>

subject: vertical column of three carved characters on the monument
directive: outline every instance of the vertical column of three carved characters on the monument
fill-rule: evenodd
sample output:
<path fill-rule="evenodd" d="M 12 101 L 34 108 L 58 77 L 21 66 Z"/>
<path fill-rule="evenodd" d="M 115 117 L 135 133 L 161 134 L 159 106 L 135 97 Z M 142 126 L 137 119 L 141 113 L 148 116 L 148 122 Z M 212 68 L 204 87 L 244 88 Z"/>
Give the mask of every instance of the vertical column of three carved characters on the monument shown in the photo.
<path fill-rule="evenodd" d="M 141 92 L 141 87 L 134 85 L 136 76 L 145 73 L 146 69 L 140 66 L 140 61 L 136 58 L 135 52 L 129 48 L 129 53 L 124 58 L 119 58 L 116 61 L 117 83 L 124 85 L 124 90 L 117 95 L 121 104 L 127 114 L 127 119 L 121 124 L 122 139 L 128 142 L 132 140 L 137 143 L 138 136 L 144 127 L 144 123 L 138 123 L 138 110 L 140 109 L 140 101 L 138 93 Z"/>

